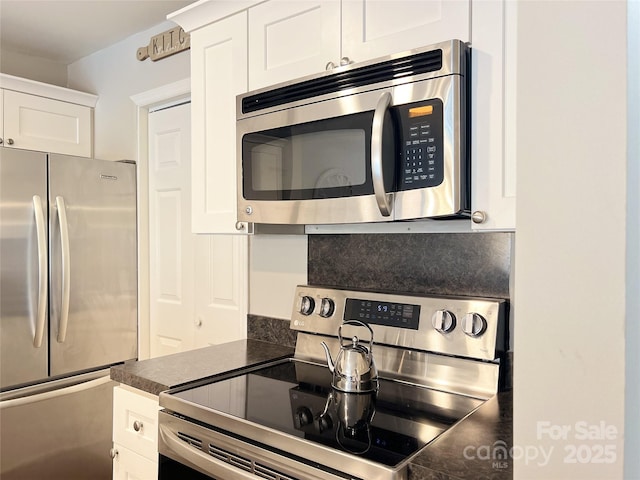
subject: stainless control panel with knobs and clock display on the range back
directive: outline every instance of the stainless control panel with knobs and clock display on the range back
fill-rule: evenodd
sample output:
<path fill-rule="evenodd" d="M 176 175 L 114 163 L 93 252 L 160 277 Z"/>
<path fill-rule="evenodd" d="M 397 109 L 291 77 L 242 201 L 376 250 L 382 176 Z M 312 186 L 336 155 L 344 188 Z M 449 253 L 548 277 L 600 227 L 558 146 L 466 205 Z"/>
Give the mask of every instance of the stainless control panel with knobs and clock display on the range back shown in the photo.
<path fill-rule="evenodd" d="M 478 297 L 396 295 L 301 285 L 291 329 L 337 336 L 349 320 L 368 324 L 374 343 L 494 360 L 506 347 L 506 301 Z M 361 335 L 345 327 L 343 336 Z"/>

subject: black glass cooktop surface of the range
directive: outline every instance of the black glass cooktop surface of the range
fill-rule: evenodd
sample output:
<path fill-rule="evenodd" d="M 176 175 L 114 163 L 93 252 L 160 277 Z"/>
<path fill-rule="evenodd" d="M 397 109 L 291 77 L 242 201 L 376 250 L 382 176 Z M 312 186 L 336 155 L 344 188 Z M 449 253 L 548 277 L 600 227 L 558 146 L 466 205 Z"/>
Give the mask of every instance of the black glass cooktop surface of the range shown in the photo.
<path fill-rule="evenodd" d="M 293 359 L 171 395 L 389 466 L 482 403 L 385 379 L 375 394 L 338 392 L 327 367 Z"/>

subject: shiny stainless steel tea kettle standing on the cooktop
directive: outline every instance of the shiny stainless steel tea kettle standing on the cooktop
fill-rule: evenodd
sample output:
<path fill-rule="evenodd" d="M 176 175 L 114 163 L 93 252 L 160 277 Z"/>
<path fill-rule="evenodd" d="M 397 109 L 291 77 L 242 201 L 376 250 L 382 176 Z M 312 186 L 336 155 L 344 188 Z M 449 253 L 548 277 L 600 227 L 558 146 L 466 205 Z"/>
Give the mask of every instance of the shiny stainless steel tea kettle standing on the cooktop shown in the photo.
<path fill-rule="evenodd" d="M 362 345 L 358 337 L 353 336 L 347 344 L 342 337 L 342 327 L 345 325 L 358 325 L 369 330 L 371 340 L 369 348 Z M 335 362 L 331 358 L 331 352 L 325 342 L 322 342 L 327 356 L 327 365 L 333 374 L 331 386 L 336 390 L 347 393 L 367 393 L 378 389 L 378 372 L 373 361 L 373 330 L 366 323 L 358 320 L 344 322 L 338 328 L 338 341 L 340 352 Z"/>

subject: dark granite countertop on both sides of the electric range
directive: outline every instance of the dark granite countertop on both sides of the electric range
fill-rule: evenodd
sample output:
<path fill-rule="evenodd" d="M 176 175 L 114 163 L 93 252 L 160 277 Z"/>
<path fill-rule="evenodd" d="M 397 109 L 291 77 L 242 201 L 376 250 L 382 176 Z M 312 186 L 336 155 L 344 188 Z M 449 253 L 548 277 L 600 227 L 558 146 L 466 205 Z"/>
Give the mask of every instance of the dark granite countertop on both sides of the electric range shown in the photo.
<path fill-rule="evenodd" d="M 111 378 L 158 395 L 206 377 L 290 357 L 294 349 L 239 340 L 111 367 Z M 446 431 L 409 465 L 409 480 L 510 480 L 513 465 L 500 456 L 513 443 L 513 395 L 494 396 Z"/>

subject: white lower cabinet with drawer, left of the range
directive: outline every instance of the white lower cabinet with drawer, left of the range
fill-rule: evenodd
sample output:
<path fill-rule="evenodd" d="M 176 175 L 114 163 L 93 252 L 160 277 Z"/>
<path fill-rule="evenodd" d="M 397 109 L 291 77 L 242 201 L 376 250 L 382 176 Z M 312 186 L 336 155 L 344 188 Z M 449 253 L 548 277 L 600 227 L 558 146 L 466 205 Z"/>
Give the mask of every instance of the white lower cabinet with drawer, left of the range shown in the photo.
<path fill-rule="evenodd" d="M 156 395 L 132 387 L 113 389 L 113 478 L 158 477 Z"/>

